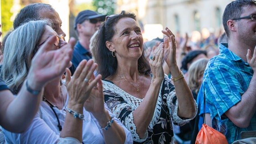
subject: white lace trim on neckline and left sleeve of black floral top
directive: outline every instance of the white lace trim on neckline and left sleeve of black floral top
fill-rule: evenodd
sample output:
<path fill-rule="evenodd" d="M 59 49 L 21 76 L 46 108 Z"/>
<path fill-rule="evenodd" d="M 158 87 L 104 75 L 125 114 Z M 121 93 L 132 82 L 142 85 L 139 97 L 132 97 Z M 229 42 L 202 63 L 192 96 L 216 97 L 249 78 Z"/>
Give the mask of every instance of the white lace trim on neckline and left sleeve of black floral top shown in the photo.
<path fill-rule="evenodd" d="M 165 78 L 166 78 L 166 76 L 165 76 Z M 130 106 L 131 110 L 134 111 L 139 106 L 139 104 L 142 103 L 143 99 L 139 99 L 139 98 L 134 97 L 131 94 L 128 94 L 127 92 L 120 89 L 118 86 L 112 84 L 111 82 L 103 81 L 103 88 L 105 90 L 110 90 L 110 91 L 113 91 L 116 94 L 120 95 L 124 99 L 124 101 L 126 101 L 126 103 L 127 103 L 127 104 L 126 103 L 118 104 L 117 106 L 115 106 L 115 108 L 112 109 L 113 114 L 117 117 L 119 116 L 119 114 L 121 113 L 121 110 L 123 108 Z M 160 86 L 160 92 L 158 94 L 158 98 L 157 98 L 157 102 L 156 102 L 156 106 L 155 106 L 155 112 L 154 112 L 151 122 L 149 124 L 150 129 L 153 129 L 153 126 L 155 125 L 155 123 L 158 121 L 158 119 L 160 117 L 161 99 L 162 99 L 161 89 L 162 89 L 162 84 Z M 146 140 L 146 138 L 148 136 L 147 130 L 142 139 L 140 139 L 139 135 L 136 133 L 136 126 L 133 122 L 133 112 L 131 114 L 129 114 L 128 117 L 125 118 L 125 126 L 131 132 L 134 141 L 143 142 Z"/>

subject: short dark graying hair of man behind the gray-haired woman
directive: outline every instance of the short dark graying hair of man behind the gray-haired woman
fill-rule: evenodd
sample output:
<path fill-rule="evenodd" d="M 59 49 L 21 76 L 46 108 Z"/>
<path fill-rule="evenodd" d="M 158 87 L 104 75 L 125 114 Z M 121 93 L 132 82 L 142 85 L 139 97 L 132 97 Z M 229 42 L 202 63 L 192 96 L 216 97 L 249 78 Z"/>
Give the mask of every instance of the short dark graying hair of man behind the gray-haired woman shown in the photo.
<path fill-rule="evenodd" d="M 55 11 L 50 4 L 28 4 L 16 15 L 13 23 L 14 29 L 31 20 L 40 20 L 40 11 L 45 9 Z"/>

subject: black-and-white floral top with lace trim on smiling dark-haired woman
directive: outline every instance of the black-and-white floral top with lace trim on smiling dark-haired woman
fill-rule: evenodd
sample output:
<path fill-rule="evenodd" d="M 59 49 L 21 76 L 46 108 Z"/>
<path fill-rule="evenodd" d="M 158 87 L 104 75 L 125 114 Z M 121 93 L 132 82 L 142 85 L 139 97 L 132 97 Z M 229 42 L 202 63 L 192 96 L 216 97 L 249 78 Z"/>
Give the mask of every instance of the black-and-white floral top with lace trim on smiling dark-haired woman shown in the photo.
<path fill-rule="evenodd" d="M 175 125 L 182 126 L 191 120 L 178 117 L 178 101 L 174 85 L 170 83 L 168 76 L 165 76 L 160 87 L 152 120 L 144 137 L 140 139 L 133 122 L 133 111 L 142 103 L 143 99 L 138 99 L 128 94 L 111 81 L 103 81 L 103 87 L 107 106 L 123 125 L 130 130 L 133 136 L 133 144 L 173 144 L 172 121 Z"/>

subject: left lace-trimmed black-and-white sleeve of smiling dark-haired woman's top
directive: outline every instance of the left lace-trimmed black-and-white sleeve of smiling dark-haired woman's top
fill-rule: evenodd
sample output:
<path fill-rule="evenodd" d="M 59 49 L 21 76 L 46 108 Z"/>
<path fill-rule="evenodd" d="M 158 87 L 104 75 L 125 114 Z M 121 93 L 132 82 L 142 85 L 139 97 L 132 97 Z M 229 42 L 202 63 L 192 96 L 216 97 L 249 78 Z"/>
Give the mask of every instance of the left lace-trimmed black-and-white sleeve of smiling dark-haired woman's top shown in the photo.
<path fill-rule="evenodd" d="M 133 140 L 143 142 L 147 138 L 147 131 L 143 138 L 140 138 L 136 133 L 136 126 L 133 122 L 133 106 L 129 105 L 120 95 L 110 91 L 104 90 L 105 103 L 117 117 L 122 124 L 131 132 Z"/>

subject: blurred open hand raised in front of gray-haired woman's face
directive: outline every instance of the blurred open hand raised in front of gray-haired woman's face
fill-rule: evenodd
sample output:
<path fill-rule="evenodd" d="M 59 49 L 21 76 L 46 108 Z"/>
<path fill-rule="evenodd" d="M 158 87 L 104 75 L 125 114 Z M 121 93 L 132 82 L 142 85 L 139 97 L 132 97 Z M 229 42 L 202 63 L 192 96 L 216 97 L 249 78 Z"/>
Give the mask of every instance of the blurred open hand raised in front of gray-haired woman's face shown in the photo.
<path fill-rule="evenodd" d="M 60 49 L 54 46 L 55 40 L 56 36 L 50 37 L 32 58 L 27 80 L 34 88 L 43 87 L 48 81 L 61 76 L 65 68 L 69 67 L 75 39 L 70 38 L 69 43 Z"/>

